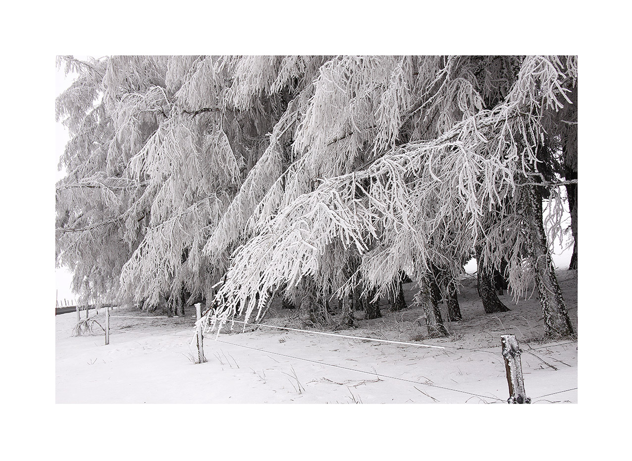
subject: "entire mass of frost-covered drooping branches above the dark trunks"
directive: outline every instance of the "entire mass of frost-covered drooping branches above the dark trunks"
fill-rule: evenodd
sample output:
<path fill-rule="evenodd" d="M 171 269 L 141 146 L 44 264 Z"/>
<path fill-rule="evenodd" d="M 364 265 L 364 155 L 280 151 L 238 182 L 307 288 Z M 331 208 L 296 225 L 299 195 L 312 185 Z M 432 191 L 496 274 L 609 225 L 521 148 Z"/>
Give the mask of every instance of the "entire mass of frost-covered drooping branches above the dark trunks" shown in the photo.
<path fill-rule="evenodd" d="M 186 293 L 217 326 L 275 294 L 374 297 L 432 267 L 458 281 L 478 247 L 564 317 L 549 245 L 576 187 L 575 56 L 58 63 L 79 77 L 56 101 L 57 261 L 85 297 Z"/>

